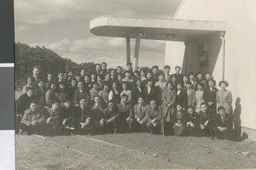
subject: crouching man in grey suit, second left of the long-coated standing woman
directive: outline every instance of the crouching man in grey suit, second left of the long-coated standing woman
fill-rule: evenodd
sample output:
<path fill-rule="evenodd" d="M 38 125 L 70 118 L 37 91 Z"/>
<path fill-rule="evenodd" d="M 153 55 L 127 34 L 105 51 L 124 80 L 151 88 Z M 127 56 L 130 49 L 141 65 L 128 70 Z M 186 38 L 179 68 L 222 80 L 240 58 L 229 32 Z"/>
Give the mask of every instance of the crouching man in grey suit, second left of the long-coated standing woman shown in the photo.
<path fill-rule="evenodd" d="M 140 131 L 146 130 L 148 105 L 145 105 L 143 97 L 138 97 L 137 105 L 134 105 L 135 126 Z"/>

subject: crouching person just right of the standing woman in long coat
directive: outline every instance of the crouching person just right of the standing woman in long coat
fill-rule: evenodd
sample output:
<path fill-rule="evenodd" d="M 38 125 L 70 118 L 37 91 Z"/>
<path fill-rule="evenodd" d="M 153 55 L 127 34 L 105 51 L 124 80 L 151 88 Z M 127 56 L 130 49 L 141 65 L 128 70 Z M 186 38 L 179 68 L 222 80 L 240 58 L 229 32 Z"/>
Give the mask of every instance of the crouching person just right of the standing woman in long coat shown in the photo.
<path fill-rule="evenodd" d="M 172 116 L 172 128 L 175 135 L 183 136 L 185 134 L 186 122 L 187 122 L 186 112 L 183 111 L 183 107 L 181 105 L 177 105 L 176 111 L 174 111 Z"/>

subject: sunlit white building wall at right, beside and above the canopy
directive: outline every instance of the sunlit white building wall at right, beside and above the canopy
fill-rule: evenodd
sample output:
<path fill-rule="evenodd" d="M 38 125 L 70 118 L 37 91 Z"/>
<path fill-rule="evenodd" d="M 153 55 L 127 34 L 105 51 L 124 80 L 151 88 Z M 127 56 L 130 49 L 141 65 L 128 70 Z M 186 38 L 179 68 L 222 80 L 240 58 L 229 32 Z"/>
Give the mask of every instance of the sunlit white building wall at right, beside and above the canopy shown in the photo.
<path fill-rule="evenodd" d="M 236 99 L 241 98 L 241 126 L 253 129 L 256 129 L 256 113 L 253 108 L 256 105 L 255 8 L 255 0 L 186 0 L 174 18 L 226 21 L 225 80 L 230 82 L 234 108 Z M 166 42 L 167 56 L 168 50 L 172 48 L 172 43 Z M 213 70 L 217 82 L 222 75 L 220 59 L 218 57 Z"/>

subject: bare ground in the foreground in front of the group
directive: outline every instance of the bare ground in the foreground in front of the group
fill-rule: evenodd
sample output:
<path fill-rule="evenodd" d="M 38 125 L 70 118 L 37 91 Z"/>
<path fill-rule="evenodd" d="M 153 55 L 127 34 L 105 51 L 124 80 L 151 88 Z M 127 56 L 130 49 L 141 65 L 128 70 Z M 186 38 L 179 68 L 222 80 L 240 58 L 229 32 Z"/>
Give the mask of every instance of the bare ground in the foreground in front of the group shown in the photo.
<path fill-rule="evenodd" d="M 248 154 L 246 153 L 248 152 Z M 256 142 L 152 135 L 16 136 L 16 169 L 256 168 Z"/>

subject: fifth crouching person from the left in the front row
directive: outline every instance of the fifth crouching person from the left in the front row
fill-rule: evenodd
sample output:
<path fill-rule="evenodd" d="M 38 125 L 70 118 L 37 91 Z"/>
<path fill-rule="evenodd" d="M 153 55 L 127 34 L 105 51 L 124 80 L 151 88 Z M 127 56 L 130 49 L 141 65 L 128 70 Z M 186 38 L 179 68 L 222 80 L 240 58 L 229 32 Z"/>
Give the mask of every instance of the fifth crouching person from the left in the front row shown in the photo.
<path fill-rule="evenodd" d="M 104 127 L 104 113 L 103 110 L 105 109 L 105 105 L 101 102 L 101 96 L 96 95 L 94 97 L 94 105 L 91 107 L 91 126 L 92 126 L 92 133 L 101 133 L 102 127 Z"/>

